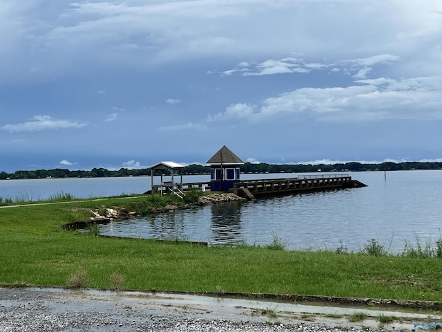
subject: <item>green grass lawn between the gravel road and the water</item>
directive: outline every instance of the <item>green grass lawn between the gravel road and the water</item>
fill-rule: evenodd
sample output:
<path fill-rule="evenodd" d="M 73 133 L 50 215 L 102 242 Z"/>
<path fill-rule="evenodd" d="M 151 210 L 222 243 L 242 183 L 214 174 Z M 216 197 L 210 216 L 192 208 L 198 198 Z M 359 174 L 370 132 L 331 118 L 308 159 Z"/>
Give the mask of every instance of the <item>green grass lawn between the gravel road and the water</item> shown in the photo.
<path fill-rule="evenodd" d="M 86 208 L 147 203 L 137 197 L 1 208 L 0 285 L 67 286 L 77 278 L 96 288 L 442 301 L 442 261 L 436 257 L 207 248 L 61 228 L 87 219 Z"/>

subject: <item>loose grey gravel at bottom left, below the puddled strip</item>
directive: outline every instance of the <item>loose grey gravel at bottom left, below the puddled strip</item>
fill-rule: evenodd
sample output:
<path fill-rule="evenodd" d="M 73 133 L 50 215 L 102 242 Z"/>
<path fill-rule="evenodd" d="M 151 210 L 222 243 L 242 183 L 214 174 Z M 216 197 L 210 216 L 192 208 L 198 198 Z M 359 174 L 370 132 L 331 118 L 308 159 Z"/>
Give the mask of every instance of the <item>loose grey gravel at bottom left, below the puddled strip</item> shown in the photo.
<path fill-rule="evenodd" d="M 240 307 L 233 315 L 222 304 L 215 306 L 219 308 L 215 312 L 207 306 L 177 304 L 172 298 L 169 301 L 61 289 L 0 288 L 0 331 L 385 331 L 337 321 L 325 324 L 293 317 L 270 319 L 253 315 L 253 311 L 246 314 Z"/>

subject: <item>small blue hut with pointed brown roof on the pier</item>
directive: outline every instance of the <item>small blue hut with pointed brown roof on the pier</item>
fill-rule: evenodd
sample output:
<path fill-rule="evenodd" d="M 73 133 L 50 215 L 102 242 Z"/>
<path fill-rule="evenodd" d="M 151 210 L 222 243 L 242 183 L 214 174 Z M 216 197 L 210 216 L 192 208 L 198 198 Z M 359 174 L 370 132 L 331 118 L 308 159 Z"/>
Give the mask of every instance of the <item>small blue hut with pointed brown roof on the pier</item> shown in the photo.
<path fill-rule="evenodd" d="M 244 161 L 225 145 L 206 163 L 210 165 L 212 192 L 227 192 L 233 183 L 240 182 L 240 165 L 244 165 Z"/>

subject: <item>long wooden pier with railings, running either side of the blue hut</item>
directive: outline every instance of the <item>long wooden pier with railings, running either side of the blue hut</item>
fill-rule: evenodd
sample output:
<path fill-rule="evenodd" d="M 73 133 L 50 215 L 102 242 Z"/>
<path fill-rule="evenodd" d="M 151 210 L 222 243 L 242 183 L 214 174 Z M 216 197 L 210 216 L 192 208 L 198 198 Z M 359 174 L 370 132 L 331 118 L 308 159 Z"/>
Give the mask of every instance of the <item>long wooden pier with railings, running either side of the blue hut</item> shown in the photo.
<path fill-rule="evenodd" d="M 200 189 L 211 190 L 211 181 L 195 183 L 164 183 L 153 185 L 153 193 L 157 192 L 181 192 Z M 295 194 L 297 192 L 320 192 L 325 190 L 367 187 L 364 183 L 352 179 L 348 174 L 315 174 L 302 175 L 296 178 L 272 178 L 261 180 L 241 180 L 233 183 L 233 189 L 229 190 L 238 196 L 247 199 L 256 199 L 258 196 L 273 196 L 280 194 Z"/>

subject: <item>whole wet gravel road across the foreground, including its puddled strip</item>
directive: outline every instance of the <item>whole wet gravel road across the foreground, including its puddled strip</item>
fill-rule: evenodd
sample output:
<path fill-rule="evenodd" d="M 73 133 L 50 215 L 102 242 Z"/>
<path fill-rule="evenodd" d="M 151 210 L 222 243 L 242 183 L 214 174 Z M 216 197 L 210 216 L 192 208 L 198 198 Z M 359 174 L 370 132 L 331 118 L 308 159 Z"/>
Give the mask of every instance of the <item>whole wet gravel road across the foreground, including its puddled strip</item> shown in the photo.
<path fill-rule="evenodd" d="M 427 317 L 394 313 L 403 318 L 381 327 L 373 316 L 349 322 L 347 313 L 354 311 L 182 294 L 0 288 L 1 332 L 410 331 Z"/>

